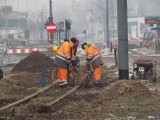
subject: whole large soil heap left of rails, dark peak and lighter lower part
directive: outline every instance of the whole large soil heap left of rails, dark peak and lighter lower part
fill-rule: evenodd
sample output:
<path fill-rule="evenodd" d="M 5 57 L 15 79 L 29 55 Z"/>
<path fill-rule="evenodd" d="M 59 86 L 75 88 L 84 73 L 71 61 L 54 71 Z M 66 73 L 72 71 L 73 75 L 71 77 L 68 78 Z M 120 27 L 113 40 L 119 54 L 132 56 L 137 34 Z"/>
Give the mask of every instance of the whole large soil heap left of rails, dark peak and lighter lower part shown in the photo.
<path fill-rule="evenodd" d="M 11 73 L 0 81 L 1 105 L 8 103 L 6 99 L 20 99 L 37 91 L 41 87 L 40 81 L 43 75 L 44 85 L 52 83 L 52 68 L 53 60 L 51 58 L 40 52 L 32 52 L 16 64 Z"/>

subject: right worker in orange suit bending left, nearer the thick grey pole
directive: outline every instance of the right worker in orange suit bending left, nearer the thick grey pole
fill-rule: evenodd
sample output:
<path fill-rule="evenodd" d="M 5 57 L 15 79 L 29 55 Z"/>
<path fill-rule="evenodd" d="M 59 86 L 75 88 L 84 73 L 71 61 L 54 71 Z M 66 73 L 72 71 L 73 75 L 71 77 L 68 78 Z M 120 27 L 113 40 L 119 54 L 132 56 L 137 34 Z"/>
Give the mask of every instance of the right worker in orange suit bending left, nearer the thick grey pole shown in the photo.
<path fill-rule="evenodd" d="M 95 45 L 84 42 L 82 49 L 85 52 L 86 60 L 94 75 L 94 86 L 101 87 L 101 69 L 102 69 L 102 55 L 99 49 Z"/>

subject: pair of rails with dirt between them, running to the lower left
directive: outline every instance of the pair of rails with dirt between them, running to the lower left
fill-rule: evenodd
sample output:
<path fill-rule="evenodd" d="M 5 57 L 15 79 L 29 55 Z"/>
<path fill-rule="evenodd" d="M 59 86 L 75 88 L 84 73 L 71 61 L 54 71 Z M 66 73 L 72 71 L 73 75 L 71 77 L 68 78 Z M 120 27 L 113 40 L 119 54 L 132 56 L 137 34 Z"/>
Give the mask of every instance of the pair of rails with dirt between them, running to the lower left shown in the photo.
<path fill-rule="evenodd" d="M 33 94 L 27 95 L 20 100 L 17 100 L 13 103 L 10 103 L 6 106 L 1 107 L 0 112 L 5 111 L 9 108 L 20 109 L 20 107 L 21 106 L 24 107 L 24 105 L 34 106 L 35 101 L 36 101 L 36 105 L 39 104 L 38 105 L 39 107 L 40 106 L 50 107 L 55 103 L 59 102 L 60 100 L 64 99 L 65 97 L 69 96 L 80 87 L 80 85 L 78 85 L 72 88 L 70 87 L 67 90 L 61 90 L 55 87 L 57 82 L 58 81 L 55 81 L 53 82 L 53 84 L 45 86 L 44 88 L 39 89 Z"/>

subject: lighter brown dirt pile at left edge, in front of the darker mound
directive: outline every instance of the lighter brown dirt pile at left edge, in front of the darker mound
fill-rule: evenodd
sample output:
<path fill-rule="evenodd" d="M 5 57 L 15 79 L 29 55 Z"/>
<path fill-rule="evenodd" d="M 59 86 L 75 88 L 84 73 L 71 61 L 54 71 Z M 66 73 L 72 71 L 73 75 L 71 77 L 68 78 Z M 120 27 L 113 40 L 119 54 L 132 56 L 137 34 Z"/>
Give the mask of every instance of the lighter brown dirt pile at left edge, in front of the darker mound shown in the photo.
<path fill-rule="evenodd" d="M 8 74 L 0 81 L 0 107 L 36 92 L 40 79 L 32 73 Z"/>

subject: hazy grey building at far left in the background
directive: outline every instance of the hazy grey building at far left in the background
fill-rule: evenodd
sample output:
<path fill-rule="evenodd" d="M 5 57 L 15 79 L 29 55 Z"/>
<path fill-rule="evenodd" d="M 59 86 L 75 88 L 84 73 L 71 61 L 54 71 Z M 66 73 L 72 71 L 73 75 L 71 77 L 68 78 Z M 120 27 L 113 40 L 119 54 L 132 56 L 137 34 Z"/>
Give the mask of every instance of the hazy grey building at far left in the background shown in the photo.
<path fill-rule="evenodd" d="M 24 38 L 27 28 L 27 15 L 13 11 L 11 6 L 0 9 L 0 39 Z"/>

